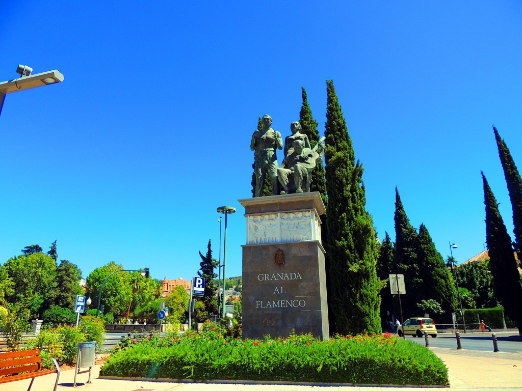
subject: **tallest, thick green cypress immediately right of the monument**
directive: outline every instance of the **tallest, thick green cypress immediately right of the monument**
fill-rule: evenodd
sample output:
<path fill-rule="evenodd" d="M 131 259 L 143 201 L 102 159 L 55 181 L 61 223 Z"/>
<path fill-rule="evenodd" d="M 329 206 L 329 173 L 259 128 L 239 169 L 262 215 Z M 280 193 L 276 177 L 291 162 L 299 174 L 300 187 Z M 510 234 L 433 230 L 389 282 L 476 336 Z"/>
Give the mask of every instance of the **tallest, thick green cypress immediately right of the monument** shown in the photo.
<path fill-rule="evenodd" d="M 372 217 L 365 209 L 363 167 L 359 161 L 355 162 L 334 82 L 327 80 L 326 88 L 329 312 L 333 312 L 333 328 L 337 332 L 379 333 L 381 284 L 375 271 L 377 238 Z"/>

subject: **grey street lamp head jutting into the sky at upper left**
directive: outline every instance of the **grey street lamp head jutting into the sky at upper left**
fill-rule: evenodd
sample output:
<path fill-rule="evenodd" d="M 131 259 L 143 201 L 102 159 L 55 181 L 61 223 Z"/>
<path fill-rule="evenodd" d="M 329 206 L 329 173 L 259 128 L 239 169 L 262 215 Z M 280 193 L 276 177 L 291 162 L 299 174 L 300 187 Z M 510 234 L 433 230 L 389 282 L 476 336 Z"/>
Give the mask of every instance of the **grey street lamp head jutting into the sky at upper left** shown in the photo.
<path fill-rule="evenodd" d="M 56 69 L 42 72 L 41 74 L 31 75 L 32 68 L 26 65 L 18 65 L 16 71 L 21 75 L 21 77 L 0 82 L 0 114 L 2 114 L 2 107 L 4 106 L 6 94 L 64 81 L 64 75 Z"/>

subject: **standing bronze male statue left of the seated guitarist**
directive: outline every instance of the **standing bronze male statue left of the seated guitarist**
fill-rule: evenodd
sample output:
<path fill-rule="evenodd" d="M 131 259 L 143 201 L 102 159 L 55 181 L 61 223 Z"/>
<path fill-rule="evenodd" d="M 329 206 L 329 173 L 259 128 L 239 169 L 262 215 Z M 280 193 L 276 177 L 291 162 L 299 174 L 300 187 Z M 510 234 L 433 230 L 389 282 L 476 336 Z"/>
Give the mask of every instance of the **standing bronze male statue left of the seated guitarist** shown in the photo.
<path fill-rule="evenodd" d="M 267 174 L 272 185 L 272 196 L 277 196 L 279 190 L 277 168 L 279 166 L 277 164 L 276 148 L 283 148 L 283 139 L 281 138 L 281 133 L 270 127 L 272 125 L 272 117 L 264 115 L 262 121 L 263 129 L 256 130 L 250 142 L 250 149 L 255 151 L 256 191 L 254 197 L 263 195 L 263 185 L 265 184 Z"/>

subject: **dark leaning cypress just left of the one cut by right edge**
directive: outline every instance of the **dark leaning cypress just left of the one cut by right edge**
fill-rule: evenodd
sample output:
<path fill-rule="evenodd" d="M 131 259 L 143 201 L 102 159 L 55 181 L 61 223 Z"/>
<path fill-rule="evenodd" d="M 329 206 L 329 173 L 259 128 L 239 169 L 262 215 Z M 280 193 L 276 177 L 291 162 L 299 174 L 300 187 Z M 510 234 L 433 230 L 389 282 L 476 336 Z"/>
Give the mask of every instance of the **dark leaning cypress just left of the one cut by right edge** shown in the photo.
<path fill-rule="evenodd" d="M 506 314 L 515 320 L 522 335 L 522 286 L 511 238 L 499 212 L 493 191 L 482 174 L 486 211 L 486 242 L 490 255 L 491 274 L 495 292 Z"/>

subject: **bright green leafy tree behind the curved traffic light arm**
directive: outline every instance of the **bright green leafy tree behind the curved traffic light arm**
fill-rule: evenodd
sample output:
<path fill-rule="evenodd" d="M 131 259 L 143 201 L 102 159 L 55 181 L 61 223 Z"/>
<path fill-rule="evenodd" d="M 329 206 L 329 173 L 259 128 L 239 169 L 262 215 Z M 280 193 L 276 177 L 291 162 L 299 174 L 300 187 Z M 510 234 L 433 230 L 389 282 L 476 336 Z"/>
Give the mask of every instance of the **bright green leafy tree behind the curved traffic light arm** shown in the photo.
<path fill-rule="evenodd" d="M 108 277 L 111 273 L 119 270 L 124 270 L 122 265 L 118 265 L 114 262 L 97 267 L 94 269 L 86 279 L 88 286 L 87 294 L 94 300 L 94 305 L 97 304 L 98 294 L 100 287 L 103 284 L 103 280 Z M 105 283 L 103 287 L 101 304 L 104 304 L 104 313 L 112 313 L 113 315 L 118 312 L 127 311 L 129 301 L 132 297 L 131 288 L 131 275 L 127 272 L 114 273 Z"/>

